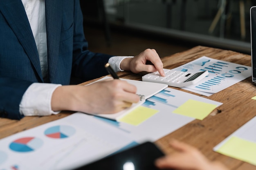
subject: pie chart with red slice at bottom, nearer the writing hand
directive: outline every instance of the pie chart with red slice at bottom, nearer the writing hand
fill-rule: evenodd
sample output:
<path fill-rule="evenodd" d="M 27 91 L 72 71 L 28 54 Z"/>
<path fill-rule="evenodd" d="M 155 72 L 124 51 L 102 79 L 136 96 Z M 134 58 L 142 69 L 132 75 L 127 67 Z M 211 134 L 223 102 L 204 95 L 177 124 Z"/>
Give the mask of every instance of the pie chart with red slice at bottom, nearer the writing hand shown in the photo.
<path fill-rule="evenodd" d="M 74 135 L 76 130 L 72 126 L 58 125 L 45 130 L 45 135 L 50 138 L 62 139 Z"/>

